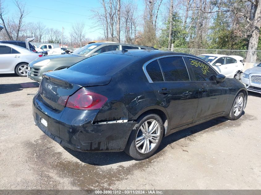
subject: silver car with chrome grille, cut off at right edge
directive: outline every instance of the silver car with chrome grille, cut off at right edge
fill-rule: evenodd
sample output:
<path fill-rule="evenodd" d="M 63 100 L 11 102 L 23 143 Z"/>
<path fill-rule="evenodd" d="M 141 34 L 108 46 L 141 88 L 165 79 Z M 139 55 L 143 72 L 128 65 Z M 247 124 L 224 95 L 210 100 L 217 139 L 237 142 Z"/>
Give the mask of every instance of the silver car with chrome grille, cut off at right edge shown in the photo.
<path fill-rule="evenodd" d="M 261 63 L 255 63 L 253 68 L 243 73 L 242 83 L 246 84 L 248 91 L 261 93 Z"/>

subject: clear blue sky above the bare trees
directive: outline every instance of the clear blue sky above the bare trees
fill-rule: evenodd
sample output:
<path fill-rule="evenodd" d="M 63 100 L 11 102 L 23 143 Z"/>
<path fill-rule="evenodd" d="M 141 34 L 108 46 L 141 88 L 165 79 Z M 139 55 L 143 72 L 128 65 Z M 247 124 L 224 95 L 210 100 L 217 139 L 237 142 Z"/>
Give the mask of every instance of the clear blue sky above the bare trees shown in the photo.
<path fill-rule="evenodd" d="M 77 22 L 84 22 L 86 37 L 94 40 L 102 36 L 101 30 L 93 28 L 92 9 L 100 7 L 98 0 L 20 0 L 25 3 L 29 14 L 24 18 L 25 22 L 42 22 L 48 28 L 62 30 L 69 36 L 71 26 Z M 143 10 L 143 1 L 134 0 L 138 9 Z M 12 0 L 5 0 L 8 15 L 11 17 L 17 11 Z"/>

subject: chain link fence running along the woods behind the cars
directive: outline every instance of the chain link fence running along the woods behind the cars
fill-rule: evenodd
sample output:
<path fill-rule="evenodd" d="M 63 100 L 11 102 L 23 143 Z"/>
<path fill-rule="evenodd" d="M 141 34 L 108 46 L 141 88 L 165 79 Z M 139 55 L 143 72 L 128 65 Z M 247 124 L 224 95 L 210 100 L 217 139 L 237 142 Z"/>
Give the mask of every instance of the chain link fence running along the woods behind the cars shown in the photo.
<path fill-rule="evenodd" d="M 170 48 L 160 49 L 163 51 L 170 51 Z M 182 48 L 173 48 L 173 51 L 192 54 L 192 55 L 202 55 L 202 54 L 221 54 L 221 55 L 238 55 L 244 58 L 243 62 L 246 62 L 246 54 L 248 50 L 220 50 L 220 49 L 182 49 Z M 254 51 L 257 53 L 255 62 L 261 62 L 261 51 Z"/>

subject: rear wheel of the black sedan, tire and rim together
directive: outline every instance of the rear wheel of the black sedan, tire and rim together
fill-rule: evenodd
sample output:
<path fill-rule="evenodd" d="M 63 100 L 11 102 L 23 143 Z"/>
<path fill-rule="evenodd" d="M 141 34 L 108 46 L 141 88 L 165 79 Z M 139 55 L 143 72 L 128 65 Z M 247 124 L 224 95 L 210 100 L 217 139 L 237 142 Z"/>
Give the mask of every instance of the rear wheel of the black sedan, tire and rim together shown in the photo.
<path fill-rule="evenodd" d="M 137 160 L 152 156 L 158 149 L 164 125 L 160 116 L 148 114 L 140 117 L 136 129 L 131 132 L 124 152 Z"/>

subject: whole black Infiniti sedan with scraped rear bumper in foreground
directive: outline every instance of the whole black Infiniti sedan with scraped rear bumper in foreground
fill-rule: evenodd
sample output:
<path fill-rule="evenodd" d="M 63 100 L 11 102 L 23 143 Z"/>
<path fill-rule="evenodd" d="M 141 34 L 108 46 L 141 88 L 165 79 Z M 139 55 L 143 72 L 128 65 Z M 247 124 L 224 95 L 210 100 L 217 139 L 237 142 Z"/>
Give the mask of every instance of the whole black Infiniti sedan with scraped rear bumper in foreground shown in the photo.
<path fill-rule="evenodd" d="M 44 74 L 33 117 L 62 146 L 141 160 L 163 136 L 220 116 L 238 119 L 246 101 L 242 83 L 196 56 L 122 50 Z"/>

